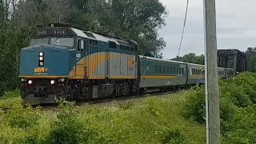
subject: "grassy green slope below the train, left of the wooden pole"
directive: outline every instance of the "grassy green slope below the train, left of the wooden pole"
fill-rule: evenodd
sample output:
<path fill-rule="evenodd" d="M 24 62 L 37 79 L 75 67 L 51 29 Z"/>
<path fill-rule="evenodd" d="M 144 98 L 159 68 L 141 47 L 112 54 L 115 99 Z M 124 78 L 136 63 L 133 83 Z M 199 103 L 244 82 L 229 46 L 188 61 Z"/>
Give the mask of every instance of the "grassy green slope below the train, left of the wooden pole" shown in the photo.
<path fill-rule="evenodd" d="M 23 109 L 7 95 L 0 107 L 13 109 L 0 112 L 2 143 L 205 143 L 204 126 L 182 115 L 190 92 L 56 110 Z"/>

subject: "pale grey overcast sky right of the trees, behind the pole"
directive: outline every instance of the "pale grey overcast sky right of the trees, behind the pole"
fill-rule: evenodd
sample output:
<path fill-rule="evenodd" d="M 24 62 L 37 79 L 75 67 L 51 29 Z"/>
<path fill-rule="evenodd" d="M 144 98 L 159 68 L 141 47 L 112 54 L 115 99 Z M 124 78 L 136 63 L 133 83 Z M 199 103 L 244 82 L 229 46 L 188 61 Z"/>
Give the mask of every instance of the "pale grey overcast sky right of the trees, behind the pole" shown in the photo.
<path fill-rule="evenodd" d="M 174 58 L 182 35 L 186 0 L 160 0 L 169 11 L 159 31 L 166 41 L 164 58 Z M 256 46 L 256 0 L 216 0 L 218 49 L 245 51 Z M 180 55 L 204 54 L 203 0 L 190 0 Z"/>

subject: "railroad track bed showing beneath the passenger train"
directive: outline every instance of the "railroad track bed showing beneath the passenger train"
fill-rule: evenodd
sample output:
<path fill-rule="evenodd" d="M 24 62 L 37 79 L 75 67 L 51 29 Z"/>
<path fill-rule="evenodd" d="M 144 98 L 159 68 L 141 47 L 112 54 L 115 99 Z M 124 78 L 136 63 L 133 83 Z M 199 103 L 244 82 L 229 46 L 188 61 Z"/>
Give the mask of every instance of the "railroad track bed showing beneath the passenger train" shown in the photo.
<path fill-rule="evenodd" d="M 142 95 L 130 95 L 130 96 L 123 96 L 123 97 L 117 97 L 117 98 L 98 98 L 94 100 L 87 100 L 83 102 L 75 102 L 75 106 L 82 106 L 84 104 L 89 104 L 89 105 L 95 105 L 95 104 L 103 104 L 103 103 L 109 103 L 109 102 L 124 102 L 124 101 L 134 101 L 139 98 L 148 98 L 151 96 L 158 96 L 158 95 L 165 95 L 165 94 L 175 94 L 178 93 L 182 90 L 165 90 L 165 91 L 159 91 L 159 90 L 150 90 L 147 91 L 145 94 Z M 58 104 L 45 104 L 45 105 L 35 105 L 32 106 L 33 108 L 36 108 L 38 106 L 41 106 L 42 110 L 54 110 L 57 108 Z M 26 107 L 26 106 L 24 106 Z M 12 110 L 12 108 L 1 108 L 0 110 L 3 110 L 4 113 L 7 113 L 8 111 Z"/>

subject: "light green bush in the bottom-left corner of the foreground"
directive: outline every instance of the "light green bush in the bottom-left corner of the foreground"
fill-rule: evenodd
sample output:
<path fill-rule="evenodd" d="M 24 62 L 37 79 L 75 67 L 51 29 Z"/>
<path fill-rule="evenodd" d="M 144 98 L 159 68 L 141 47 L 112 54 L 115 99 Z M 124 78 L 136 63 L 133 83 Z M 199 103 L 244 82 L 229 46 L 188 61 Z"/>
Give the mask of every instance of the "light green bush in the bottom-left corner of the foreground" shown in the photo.
<path fill-rule="evenodd" d="M 41 110 L 15 105 L 0 115 L 0 143 L 38 143 L 46 140 L 50 121 Z M 48 129 L 47 129 L 48 128 Z"/>

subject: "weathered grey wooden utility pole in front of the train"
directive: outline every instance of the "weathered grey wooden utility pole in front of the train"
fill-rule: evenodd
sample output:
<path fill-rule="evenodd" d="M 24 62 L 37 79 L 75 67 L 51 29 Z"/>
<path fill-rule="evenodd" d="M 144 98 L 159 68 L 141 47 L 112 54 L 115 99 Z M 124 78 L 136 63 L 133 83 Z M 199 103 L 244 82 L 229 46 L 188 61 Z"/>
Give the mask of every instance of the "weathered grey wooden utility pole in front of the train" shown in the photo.
<path fill-rule="evenodd" d="M 215 0 L 203 0 L 206 61 L 206 143 L 220 144 Z"/>

